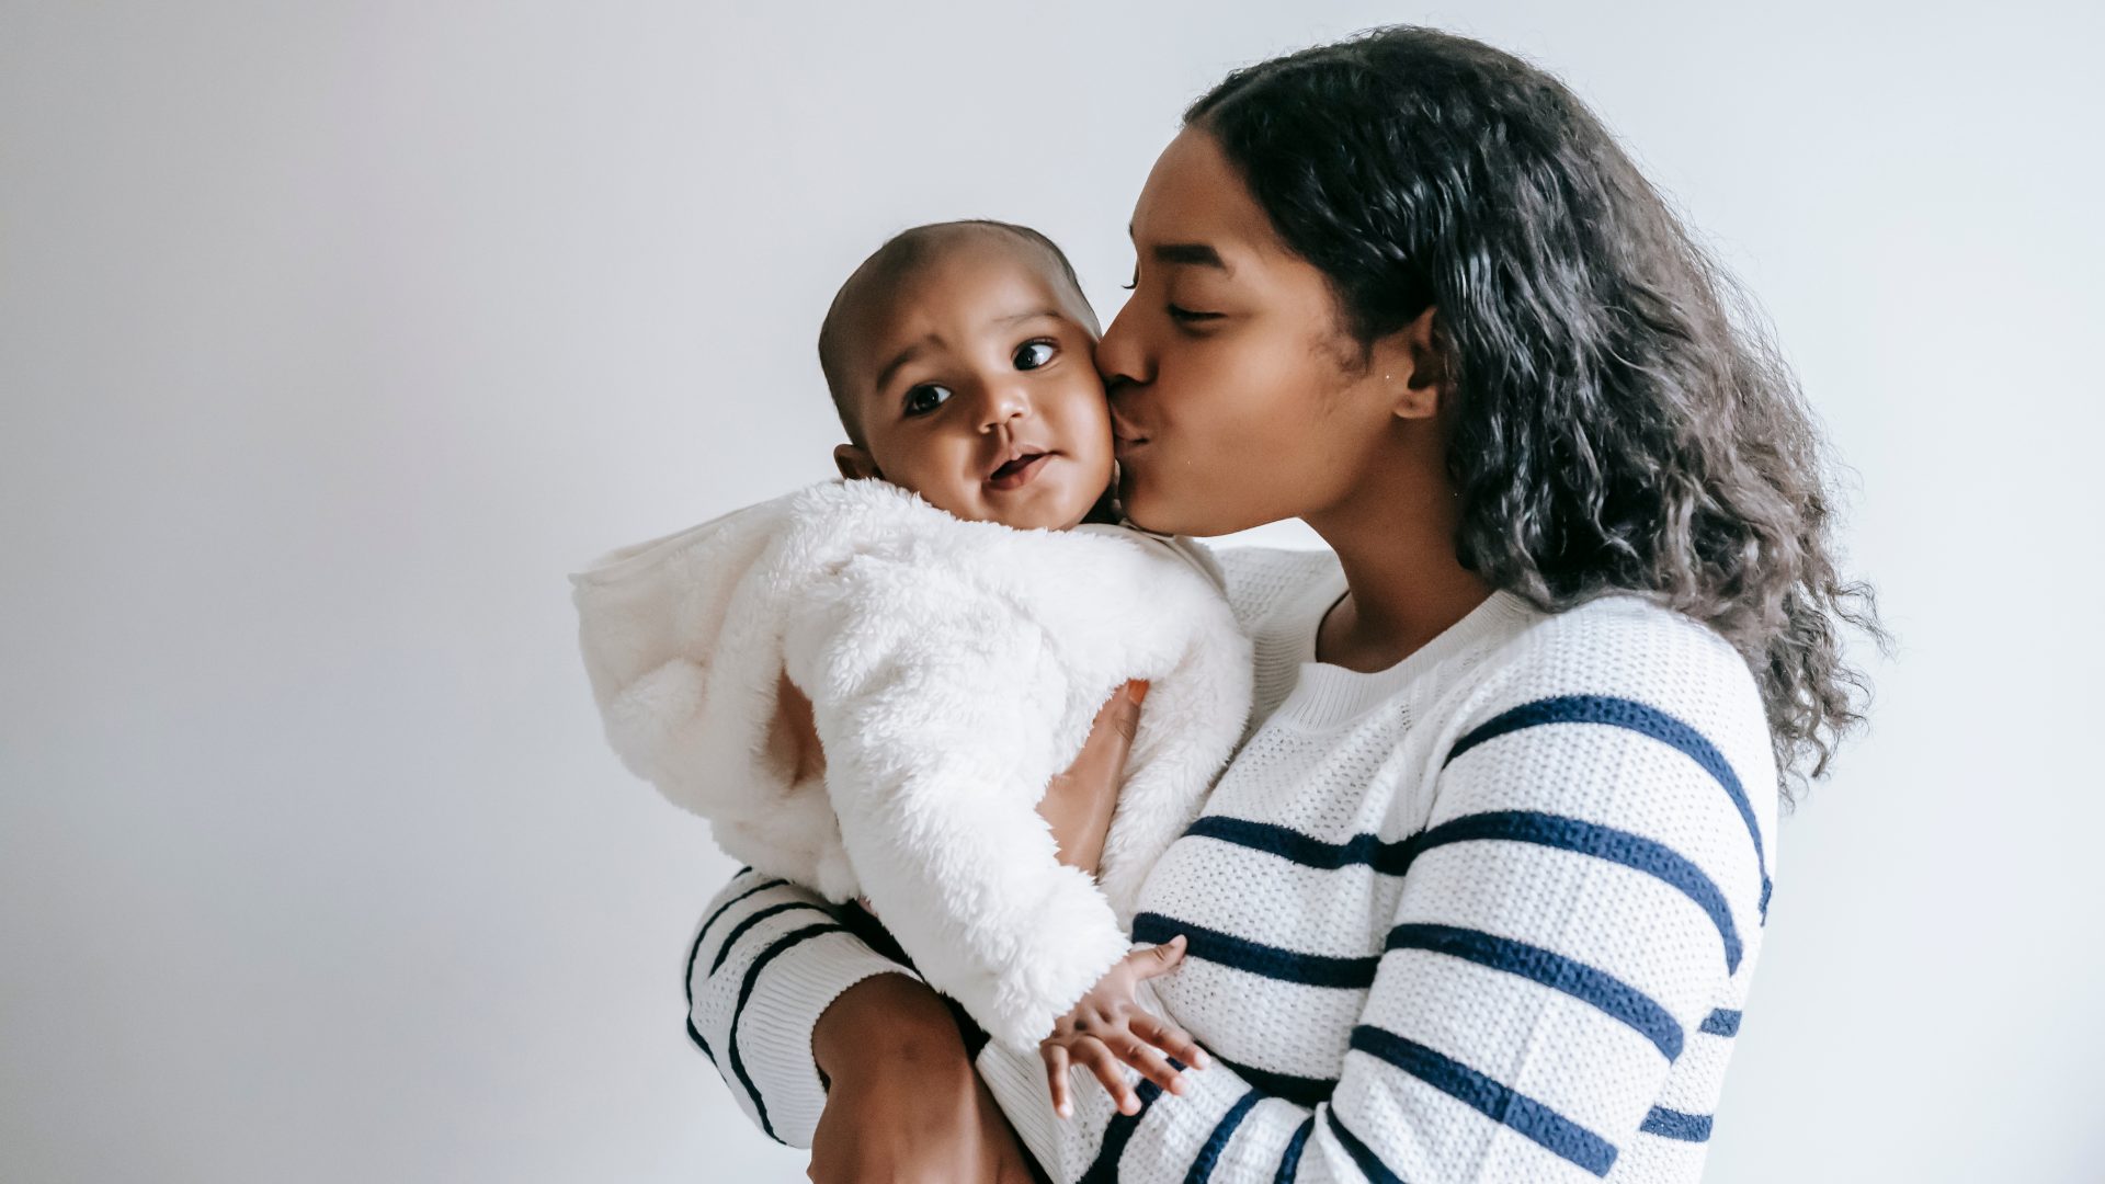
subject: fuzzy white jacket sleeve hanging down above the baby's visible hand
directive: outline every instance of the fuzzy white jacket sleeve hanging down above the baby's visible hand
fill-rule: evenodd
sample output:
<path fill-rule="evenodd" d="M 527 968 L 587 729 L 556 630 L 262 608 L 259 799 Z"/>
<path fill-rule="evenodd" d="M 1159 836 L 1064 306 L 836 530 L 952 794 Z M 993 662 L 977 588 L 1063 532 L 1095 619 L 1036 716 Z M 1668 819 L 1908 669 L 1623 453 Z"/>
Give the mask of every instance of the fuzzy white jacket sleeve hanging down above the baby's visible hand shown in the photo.
<path fill-rule="evenodd" d="M 994 1039 L 1036 1045 L 1126 954 L 1036 809 L 1088 718 L 1055 647 L 962 571 L 859 556 L 794 613 L 783 653 L 876 914 Z"/>

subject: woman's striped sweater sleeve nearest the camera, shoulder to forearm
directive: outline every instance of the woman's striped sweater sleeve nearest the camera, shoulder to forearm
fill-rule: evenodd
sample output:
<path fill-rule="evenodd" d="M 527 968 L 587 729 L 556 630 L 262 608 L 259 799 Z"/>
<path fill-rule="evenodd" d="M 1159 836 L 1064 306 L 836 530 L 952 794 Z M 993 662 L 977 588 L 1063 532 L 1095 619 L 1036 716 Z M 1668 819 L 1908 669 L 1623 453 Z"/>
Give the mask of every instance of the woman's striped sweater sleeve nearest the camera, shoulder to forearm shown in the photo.
<path fill-rule="evenodd" d="M 1638 689 L 1551 651 L 1457 712 L 1425 828 L 1372 853 L 1402 889 L 1370 956 L 1276 950 L 1307 963 L 1303 982 L 1370 971 L 1337 1079 L 1217 1058 L 1185 1096 L 1139 1085 L 1141 1114 L 1122 1117 L 1078 1077 L 1061 1123 L 1023 1117 L 1044 1091 L 989 1070 L 989 1049 L 981 1072 L 1019 1131 L 1042 1127 L 1042 1159 L 1090 1184 L 1577 1184 L 1671 1138 L 1688 1114 L 1657 1102 L 1718 1001 L 1743 994 L 1768 897 L 1766 725 L 1711 643 Z"/>

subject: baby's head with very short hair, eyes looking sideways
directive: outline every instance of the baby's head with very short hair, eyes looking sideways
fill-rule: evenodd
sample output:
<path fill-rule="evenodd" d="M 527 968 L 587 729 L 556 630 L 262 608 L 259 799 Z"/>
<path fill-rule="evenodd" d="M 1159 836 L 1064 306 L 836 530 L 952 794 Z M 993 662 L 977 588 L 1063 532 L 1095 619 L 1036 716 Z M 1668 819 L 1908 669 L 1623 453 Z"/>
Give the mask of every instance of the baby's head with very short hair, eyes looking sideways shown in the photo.
<path fill-rule="evenodd" d="M 848 276 L 819 331 L 846 445 L 840 474 L 880 476 L 958 518 L 1065 531 L 1111 482 L 1097 314 L 1036 230 L 907 230 Z"/>

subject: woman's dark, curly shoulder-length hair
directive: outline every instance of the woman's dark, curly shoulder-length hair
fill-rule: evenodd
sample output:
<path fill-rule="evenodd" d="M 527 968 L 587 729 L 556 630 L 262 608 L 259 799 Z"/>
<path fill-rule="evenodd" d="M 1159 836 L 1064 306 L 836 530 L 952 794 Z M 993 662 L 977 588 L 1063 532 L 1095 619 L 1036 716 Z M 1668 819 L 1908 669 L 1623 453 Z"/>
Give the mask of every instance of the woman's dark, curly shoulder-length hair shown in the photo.
<path fill-rule="evenodd" d="M 1185 112 L 1370 346 L 1436 310 L 1457 554 L 1545 611 L 1636 592 L 1745 655 L 1785 796 L 1863 723 L 1823 438 L 1762 318 L 1556 78 L 1389 27 Z"/>

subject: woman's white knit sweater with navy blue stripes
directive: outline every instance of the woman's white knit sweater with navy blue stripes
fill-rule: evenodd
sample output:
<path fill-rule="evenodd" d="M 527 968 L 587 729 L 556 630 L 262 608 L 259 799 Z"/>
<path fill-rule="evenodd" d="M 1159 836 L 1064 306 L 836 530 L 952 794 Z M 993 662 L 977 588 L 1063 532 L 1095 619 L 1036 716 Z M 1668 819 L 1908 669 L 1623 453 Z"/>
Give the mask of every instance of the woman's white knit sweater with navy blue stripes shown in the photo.
<path fill-rule="evenodd" d="M 1314 659 L 1337 560 L 1227 552 L 1250 735 L 1141 891 L 1187 935 L 1160 1005 L 1215 1053 L 1118 1114 L 1076 1070 L 979 1055 L 1061 1180 L 1692 1182 L 1760 950 L 1775 765 L 1745 662 L 1633 598 L 1495 594 L 1402 664 Z M 777 1140 L 825 1104 L 819 1013 L 899 969 L 817 897 L 735 879 L 690 1034 Z"/>

